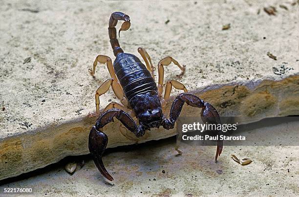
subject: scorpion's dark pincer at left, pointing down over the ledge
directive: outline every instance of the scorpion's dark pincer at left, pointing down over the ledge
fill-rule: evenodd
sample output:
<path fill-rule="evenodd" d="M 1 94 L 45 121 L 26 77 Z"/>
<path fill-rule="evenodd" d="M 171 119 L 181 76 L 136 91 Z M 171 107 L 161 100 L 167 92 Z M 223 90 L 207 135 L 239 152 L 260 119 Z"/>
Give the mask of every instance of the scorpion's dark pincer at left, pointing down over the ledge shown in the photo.
<path fill-rule="evenodd" d="M 95 126 L 92 127 L 89 133 L 88 148 L 89 152 L 93 157 L 93 161 L 96 164 L 97 168 L 101 174 L 106 177 L 108 180 L 112 181 L 113 177 L 107 172 L 102 155 L 107 147 L 108 137 L 105 133 L 98 131 Z"/>

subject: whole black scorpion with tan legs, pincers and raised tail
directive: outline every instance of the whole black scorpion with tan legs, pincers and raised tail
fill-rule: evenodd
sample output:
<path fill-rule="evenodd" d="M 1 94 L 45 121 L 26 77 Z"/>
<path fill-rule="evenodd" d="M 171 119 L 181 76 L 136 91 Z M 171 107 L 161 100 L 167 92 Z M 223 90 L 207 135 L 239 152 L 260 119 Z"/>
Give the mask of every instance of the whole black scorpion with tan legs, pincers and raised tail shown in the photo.
<path fill-rule="evenodd" d="M 130 27 L 130 19 L 128 15 L 121 12 L 114 12 L 111 14 L 108 33 L 113 53 L 116 57 L 114 63 L 112 64 L 109 57 L 99 55 L 93 63 L 93 69 L 89 70 L 90 74 L 93 76 L 97 63 L 106 63 L 111 76 L 111 78 L 107 79 L 95 93 L 96 113 L 100 114 L 99 97 L 105 94 L 110 86 L 112 86 L 113 92 L 122 103 L 122 105 L 116 102 L 109 103 L 100 114 L 95 126 L 92 127 L 89 134 L 89 151 L 101 174 L 109 180 L 113 180 L 113 178 L 107 172 L 102 161 L 102 155 L 108 143 L 108 138 L 103 132 L 103 127 L 113 121 L 114 117 L 120 120 L 136 137 L 142 137 L 145 135 L 146 130 L 150 130 L 150 128 L 159 128 L 160 126 L 163 126 L 165 129 L 172 129 L 176 119 L 181 113 L 184 103 L 201 108 L 201 118 L 204 122 L 221 123 L 218 112 L 211 104 L 188 93 L 186 87 L 176 80 L 169 80 L 166 83 L 164 97 L 162 97 L 164 66 L 173 62 L 181 69 L 182 73 L 184 73 L 185 67 L 181 66 L 171 57 L 161 59 L 158 63 L 159 79 L 158 85 L 156 85 L 153 75 L 153 65 L 147 51 L 144 48 L 138 48 L 139 54 L 146 63 L 146 65 L 144 65 L 140 59 L 132 54 L 124 53 L 123 49 L 120 47 L 116 38 L 115 29 L 118 20 L 125 21 L 119 32 L 128 30 Z M 170 117 L 166 118 L 163 115 L 162 110 L 170 98 L 172 86 L 175 89 L 183 90 L 184 93 L 181 93 L 174 99 L 171 105 Z M 133 117 L 138 119 L 138 124 Z M 221 154 L 222 147 L 222 140 L 218 140 L 215 160 L 217 160 L 218 156 Z M 176 150 L 179 154 L 182 153 L 178 148 L 176 148 Z"/>

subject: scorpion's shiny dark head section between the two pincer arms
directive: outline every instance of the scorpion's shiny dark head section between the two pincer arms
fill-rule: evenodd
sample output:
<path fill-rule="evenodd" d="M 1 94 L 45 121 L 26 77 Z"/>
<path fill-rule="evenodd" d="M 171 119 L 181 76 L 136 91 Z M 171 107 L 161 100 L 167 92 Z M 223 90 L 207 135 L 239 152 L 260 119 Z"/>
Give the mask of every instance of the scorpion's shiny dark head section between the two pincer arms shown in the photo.
<path fill-rule="evenodd" d="M 135 101 L 138 103 L 136 104 L 138 108 L 134 108 L 134 111 L 139 124 L 143 125 L 145 129 L 159 128 L 163 122 L 164 115 L 158 95 L 155 92 L 148 92 L 137 97 Z"/>

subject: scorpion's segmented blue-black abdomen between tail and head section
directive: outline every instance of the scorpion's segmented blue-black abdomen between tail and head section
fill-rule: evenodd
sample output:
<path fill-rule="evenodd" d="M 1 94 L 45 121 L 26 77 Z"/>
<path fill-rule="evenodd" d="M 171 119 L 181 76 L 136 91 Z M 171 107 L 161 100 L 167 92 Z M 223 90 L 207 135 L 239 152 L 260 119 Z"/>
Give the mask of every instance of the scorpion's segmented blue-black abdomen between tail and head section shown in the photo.
<path fill-rule="evenodd" d="M 157 92 L 156 83 L 149 70 L 136 56 L 118 53 L 113 67 L 131 105 L 134 105 L 131 101 L 135 96 L 150 91 Z"/>

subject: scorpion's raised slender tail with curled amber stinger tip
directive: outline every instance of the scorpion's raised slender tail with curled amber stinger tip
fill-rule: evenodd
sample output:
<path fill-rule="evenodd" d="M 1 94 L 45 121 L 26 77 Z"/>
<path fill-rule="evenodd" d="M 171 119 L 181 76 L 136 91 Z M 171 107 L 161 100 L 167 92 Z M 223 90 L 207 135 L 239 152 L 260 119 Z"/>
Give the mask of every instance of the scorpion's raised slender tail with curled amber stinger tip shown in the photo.
<path fill-rule="evenodd" d="M 109 27 L 108 27 L 108 32 L 109 32 L 109 39 L 110 43 L 113 49 L 114 56 L 118 53 L 124 53 L 123 49 L 119 46 L 118 40 L 116 38 L 116 29 L 115 26 L 117 24 L 118 20 L 125 20 L 125 22 L 122 24 L 122 27 L 118 31 L 118 36 L 120 31 L 126 31 L 130 28 L 130 17 L 122 12 L 113 12 L 111 14 L 110 20 L 109 20 Z"/>

